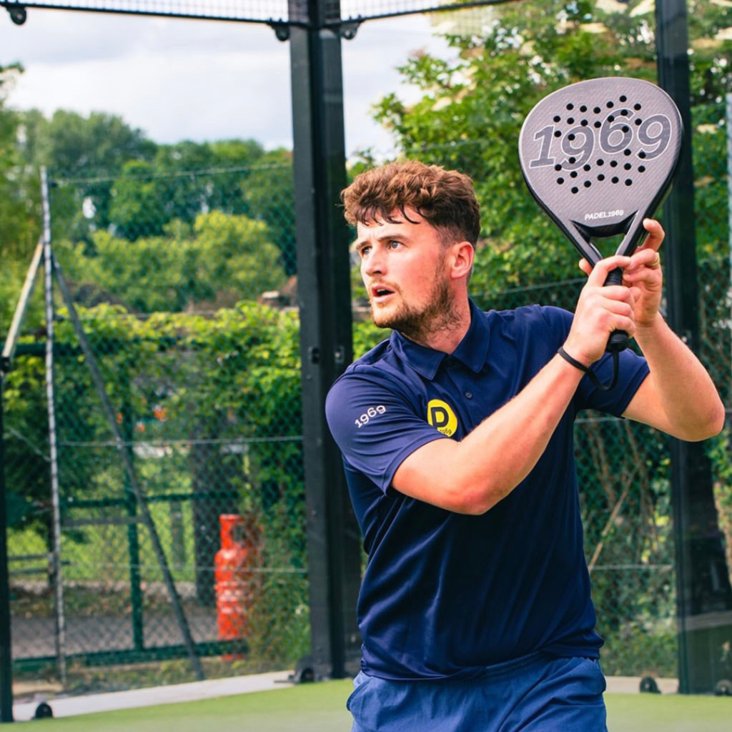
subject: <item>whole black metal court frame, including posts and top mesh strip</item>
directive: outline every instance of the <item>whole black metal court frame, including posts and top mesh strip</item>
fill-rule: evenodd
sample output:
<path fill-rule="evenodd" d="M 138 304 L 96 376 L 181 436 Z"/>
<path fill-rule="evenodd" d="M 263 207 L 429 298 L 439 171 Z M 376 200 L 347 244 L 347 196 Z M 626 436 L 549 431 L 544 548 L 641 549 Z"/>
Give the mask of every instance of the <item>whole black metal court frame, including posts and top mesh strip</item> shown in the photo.
<path fill-rule="evenodd" d="M 335 206 L 346 183 L 343 122 L 343 78 L 340 41 L 355 37 L 359 24 L 374 18 L 458 10 L 502 4 L 508 0 L 476 0 L 444 4 L 429 0 L 384 0 L 384 9 L 363 15 L 342 12 L 355 0 L 242 0 L 228 2 L 225 12 L 215 3 L 192 0 L 0 0 L 18 25 L 29 9 L 116 12 L 167 18 L 266 23 L 279 40 L 290 41 L 296 234 L 301 315 L 301 360 L 307 537 L 313 664 L 316 676 L 342 677 L 358 655 L 356 597 L 360 581 L 359 531 L 346 498 L 337 448 L 324 417 L 324 399 L 332 381 L 352 358 L 351 298 L 348 277 L 348 231 Z M 247 10 L 248 5 L 248 10 Z M 398 7 L 397 7 L 398 6 Z M 276 7 L 276 12 L 268 9 Z M 189 10 L 190 8 L 190 10 Z M 262 10 L 264 8 L 264 10 Z M 685 0 L 656 4 L 660 86 L 690 120 Z M 687 127 L 688 129 L 688 127 Z M 666 207 L 668 282 L 671 326 L 692 348 L 698 343 L 696 261 L 693 247 L 693 189 L 690 145 L 682 152 L 681 173 Z M 684 245 L 681 245 L 684 242 Z M 679 675 L 681 691 L 706 684 L 692 666 L 701 658 L 693 650 L 695 636 L 687 619 L 694 613 L 690 593 L 698 572 L 688 520 L 695 512 L 710 513 L 711 479 L 698 446 L 673 441 L 673 498 L 679 594 Z M 0 503 L 4 494 L 0 495 Z M 713 502 L 711 508 L 713 509 Z M 0 520 L 2 519 L 0 507 Z M 4 524 L 0 526 L 0 554 Z M 2 557 L 0 556 L 0 563 Z M 3 587 L 0 568 L 0 594 Z M 4 579 L 7 586 L 7 576 Z M 10 635 L 5 635 L 7 600 L 0 602 L 0 720 L 7 721 Z M 6 605 L 4 607 L 4 605 Z M 9 626 L 7 628 L 9 633 Z M 706 641 L 705 641 L 706 642 Z M 702 654 L 703 655 L 703 654 Z M 707 689 L 708 690 L 708 687 Z M 12 719 L 12 712 L 10 714 Z"/>

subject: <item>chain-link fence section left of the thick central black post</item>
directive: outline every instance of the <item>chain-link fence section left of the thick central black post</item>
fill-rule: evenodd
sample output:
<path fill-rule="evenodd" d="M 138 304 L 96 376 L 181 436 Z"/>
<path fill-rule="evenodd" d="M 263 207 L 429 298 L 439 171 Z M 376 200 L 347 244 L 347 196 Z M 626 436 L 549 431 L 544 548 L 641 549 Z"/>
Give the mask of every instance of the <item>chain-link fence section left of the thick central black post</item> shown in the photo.
<path fill-rule="evenodd" d="M 278 181 L 282 198 L 254 211 L 244 187 Z M 114 688 L 146 669 L 160 681 L 165 662 L 187 679 L 187 634 L 206 676 L 292 668 L 310 639 L 291 168 L 50 190 L 56 260 L 92 356 L 56 291 L 52 358 L 40 330 L 6 380 L 20 676 Z M 116 680 L 110 668 L 130 664 L 138 672 Z"/>

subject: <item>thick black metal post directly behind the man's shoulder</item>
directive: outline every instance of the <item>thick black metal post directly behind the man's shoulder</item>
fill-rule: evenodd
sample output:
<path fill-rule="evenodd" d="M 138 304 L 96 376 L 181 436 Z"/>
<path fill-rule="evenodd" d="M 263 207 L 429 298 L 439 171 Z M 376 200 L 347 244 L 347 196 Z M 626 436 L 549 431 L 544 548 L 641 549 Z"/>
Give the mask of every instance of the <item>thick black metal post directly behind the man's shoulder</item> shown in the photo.
<path fill-rule="evenodd" d="M 290 54 L 310 631 L 315 676 L 343 678 L 359 655 L 360 539 L 324 414 L 329 387 L 353 357 L 348 228 L 338 205 L 346 185 L 340 37 L 324 28 L 340 7 L 291 0 L 291 20 L 304 12 L 307 25 L 291 26 Z"/>

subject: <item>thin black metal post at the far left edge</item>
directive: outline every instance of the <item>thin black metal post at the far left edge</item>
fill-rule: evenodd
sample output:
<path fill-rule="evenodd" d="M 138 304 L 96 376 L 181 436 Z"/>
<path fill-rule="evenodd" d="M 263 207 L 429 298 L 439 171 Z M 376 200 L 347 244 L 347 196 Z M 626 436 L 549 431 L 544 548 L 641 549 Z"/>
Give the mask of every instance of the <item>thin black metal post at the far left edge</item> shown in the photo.
<path fill-rule="evenodd" d="M 10 581 L 7 573 L 7 507 L 5 503 L 5 374 L 0 367 L 0 722 L 12 722 L 12 643 Z"/>

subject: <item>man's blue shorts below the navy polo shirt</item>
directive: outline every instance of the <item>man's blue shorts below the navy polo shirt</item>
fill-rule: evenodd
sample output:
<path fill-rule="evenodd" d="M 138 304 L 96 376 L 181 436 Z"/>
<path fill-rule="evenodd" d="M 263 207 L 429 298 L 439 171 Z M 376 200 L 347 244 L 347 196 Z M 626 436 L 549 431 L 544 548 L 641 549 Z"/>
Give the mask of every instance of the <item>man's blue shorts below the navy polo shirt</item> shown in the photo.
<path fill-rule="evenodd" d="M 351 732 L 607 732 L 600 662 L 545 654 L 469 679 L 387 681 L 359 673 Z"/>

